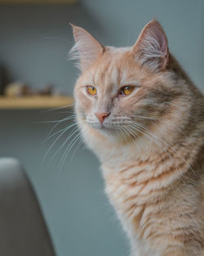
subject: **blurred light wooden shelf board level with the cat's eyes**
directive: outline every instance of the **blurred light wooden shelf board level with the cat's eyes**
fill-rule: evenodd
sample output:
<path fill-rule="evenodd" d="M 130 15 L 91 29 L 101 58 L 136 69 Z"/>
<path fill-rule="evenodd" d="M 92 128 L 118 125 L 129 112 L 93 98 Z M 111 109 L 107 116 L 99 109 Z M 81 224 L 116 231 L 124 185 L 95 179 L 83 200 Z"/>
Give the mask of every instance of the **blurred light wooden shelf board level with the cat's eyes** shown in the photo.
<path fill-rule="evenodd" d="M 65 96 L 0 97 L 0 110 L 49 109 L 72 104 L 73 98 Z"/>

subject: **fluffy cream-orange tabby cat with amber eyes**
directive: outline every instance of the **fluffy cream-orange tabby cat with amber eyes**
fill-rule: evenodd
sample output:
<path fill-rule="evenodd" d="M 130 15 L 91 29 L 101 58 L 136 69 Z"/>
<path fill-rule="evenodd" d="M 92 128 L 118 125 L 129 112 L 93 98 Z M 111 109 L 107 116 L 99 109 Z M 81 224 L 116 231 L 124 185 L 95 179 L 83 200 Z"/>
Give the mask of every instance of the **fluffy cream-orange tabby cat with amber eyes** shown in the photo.
<path fill-rule="evenodd" d="M 72 25 L 78 126 L 131 256 L 204 255 L 204 100 L 151 20 L 132 47 Z"/>

